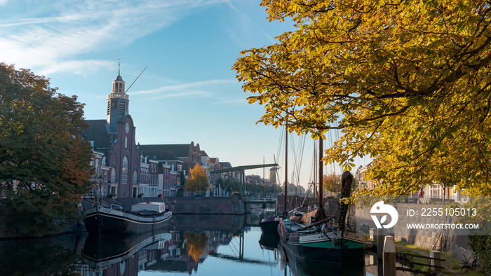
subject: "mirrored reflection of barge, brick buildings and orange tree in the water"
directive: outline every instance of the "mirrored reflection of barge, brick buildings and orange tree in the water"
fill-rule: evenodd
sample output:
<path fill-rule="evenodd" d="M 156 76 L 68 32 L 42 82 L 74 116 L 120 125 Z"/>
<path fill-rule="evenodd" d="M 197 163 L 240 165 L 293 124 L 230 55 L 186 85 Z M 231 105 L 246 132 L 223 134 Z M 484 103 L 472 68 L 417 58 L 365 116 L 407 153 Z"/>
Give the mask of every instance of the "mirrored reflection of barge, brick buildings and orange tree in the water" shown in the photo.
<path fill-rule="evenodd" d="M 128 237 L 91 237 L 83 245 L 81 275 L 138 275 L 141 271 L 197 272 L 199 264 L 231 240 L 221 231 L 163 229 Z"/>

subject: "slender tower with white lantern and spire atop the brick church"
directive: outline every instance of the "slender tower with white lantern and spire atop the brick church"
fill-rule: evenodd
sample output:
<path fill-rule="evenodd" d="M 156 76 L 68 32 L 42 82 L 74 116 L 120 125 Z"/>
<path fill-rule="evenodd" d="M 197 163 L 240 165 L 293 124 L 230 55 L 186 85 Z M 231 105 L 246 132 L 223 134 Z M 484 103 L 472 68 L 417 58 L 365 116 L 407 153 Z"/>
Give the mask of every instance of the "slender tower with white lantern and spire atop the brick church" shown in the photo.
<path fill-rule="evenodd" d="M 116 133 L 118 122 L 128 115 L 128 95 L 124 90 L 124 81 L 121 78 L 121 68 L 118 76 L 112 82 L 112 93 L 107 95 L 107 123 L 109 133 Z"/>

